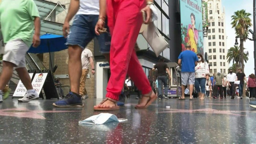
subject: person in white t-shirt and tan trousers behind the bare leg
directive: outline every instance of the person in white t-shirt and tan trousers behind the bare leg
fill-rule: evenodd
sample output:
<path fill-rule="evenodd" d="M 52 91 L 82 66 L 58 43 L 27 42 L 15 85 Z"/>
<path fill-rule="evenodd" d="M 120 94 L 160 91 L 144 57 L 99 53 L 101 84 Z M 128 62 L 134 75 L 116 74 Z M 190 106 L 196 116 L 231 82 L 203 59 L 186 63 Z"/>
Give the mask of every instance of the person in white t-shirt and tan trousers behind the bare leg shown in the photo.
<path fill-rule="evenodd" d="M 85 48 L 81 54 L 82 62 L 82 75 L 80 78 L 79 95 L 82 96 L 82 100 L 87 99 L 89 96 L 85 88 L 85 82 L 87 74 L 89 73 L 89 65 L 91 65 L 91 74 L 95 74 L 93 53 L 88 48 Z"/>

